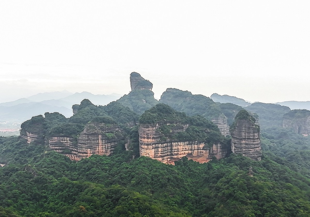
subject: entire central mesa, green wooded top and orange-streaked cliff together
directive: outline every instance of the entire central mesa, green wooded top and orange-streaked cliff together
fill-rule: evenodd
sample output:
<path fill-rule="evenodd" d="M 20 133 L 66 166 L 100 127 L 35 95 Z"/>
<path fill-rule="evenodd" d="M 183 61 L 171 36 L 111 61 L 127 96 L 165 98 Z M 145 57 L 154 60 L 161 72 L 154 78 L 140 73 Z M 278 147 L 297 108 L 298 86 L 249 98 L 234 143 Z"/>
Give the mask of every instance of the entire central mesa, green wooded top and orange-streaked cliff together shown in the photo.
<path fill-rule="evenodd" d="M 202 116 L 188 117 L 166 104 L 157 104 L 139 120 L 140 156 L 174 164 L 182 157 L 208 162 L 226 157 L 227 139 L 212 122 Z"/>

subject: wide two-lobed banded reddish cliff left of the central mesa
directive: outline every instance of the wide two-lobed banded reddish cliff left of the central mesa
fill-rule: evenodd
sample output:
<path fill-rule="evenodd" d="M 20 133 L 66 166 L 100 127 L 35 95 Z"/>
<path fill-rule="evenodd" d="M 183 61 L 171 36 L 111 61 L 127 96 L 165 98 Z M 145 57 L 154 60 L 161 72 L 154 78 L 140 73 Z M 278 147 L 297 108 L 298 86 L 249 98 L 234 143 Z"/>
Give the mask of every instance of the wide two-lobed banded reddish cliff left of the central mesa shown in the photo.
<path fill-rule="evenodd" d="M 90 123 L 85 126 L 75 144 L 73 138 L 53 136 L 49 139 L 49 146 L 71 160 L 79 161 L 92 154 L 111 155 L 114 147 L 121 140 L 125 140 L 125 137 L 118 126 Z"/>

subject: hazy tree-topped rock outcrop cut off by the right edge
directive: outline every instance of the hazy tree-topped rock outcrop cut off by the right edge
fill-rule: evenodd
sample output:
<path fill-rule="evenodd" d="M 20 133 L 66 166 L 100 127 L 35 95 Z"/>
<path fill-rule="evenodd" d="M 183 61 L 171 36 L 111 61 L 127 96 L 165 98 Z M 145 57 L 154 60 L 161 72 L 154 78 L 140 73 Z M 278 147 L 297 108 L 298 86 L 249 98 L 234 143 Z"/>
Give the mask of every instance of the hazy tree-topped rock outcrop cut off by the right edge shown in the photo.
<path fill-rule="evenodd" d="M 294 132 L 308 136 L 310 134 L 310 111 L 303 109 L 292 110 L 283 116 L 282 126 Z"/>

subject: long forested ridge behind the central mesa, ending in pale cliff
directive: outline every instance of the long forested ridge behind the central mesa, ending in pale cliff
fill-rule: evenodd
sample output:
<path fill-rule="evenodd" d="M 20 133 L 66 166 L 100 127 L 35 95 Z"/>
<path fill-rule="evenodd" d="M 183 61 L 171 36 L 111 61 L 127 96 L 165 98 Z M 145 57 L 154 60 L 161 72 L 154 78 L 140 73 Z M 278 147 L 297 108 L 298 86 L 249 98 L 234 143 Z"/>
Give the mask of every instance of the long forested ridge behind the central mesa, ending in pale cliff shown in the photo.
<path fill-rule="evenodd" d="M 203 95 L 193 95 L 188 91 L 181 91 L 168 88 L 161 96 L 160 103 L 167 104 L 177 111 L 185 112 L 187 115 L 202 115 L 214 122 L 221 133 L 229 135 L 227 118 L 221 109 L 209 97 Z"/>

